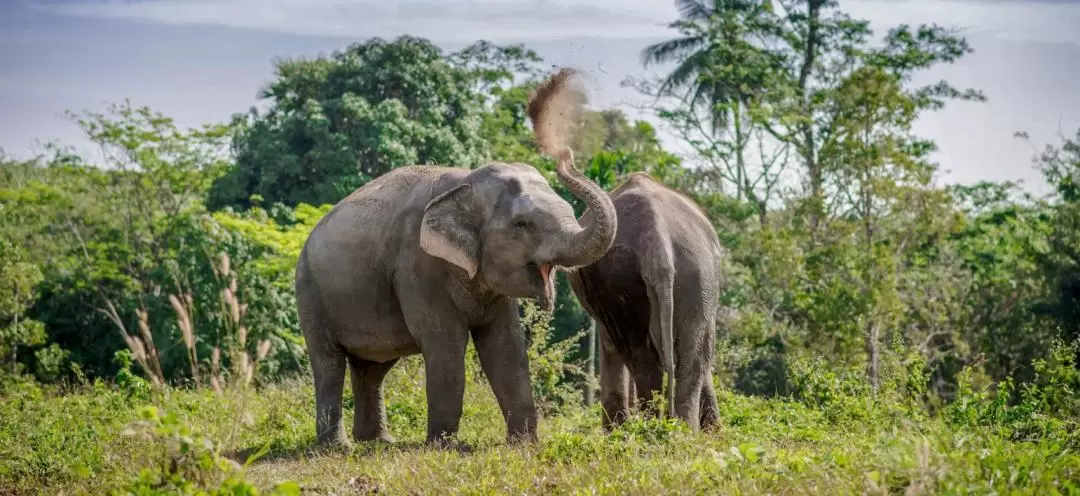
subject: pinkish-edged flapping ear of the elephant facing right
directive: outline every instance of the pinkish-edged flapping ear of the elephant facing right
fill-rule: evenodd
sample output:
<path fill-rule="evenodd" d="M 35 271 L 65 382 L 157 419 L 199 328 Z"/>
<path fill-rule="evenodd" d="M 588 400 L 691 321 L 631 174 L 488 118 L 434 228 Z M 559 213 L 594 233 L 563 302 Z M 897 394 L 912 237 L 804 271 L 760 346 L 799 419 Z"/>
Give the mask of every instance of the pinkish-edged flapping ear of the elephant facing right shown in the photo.
<path fill-rule="evenodd" d="M 469 207 L 469 185 L 456 186 L 430 202 L 423 210 L 420 249 L 476 276 L 480 268 L 480 232 Z"/>

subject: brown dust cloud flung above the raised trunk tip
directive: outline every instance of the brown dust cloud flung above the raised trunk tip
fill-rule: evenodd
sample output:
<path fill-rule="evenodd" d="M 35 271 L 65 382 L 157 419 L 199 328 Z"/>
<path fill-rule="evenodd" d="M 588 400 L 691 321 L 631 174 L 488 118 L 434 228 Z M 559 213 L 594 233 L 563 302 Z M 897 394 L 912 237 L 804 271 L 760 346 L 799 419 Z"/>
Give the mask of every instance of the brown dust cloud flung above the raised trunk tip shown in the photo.
<path fill-rule="evenodd" d="M 532 121 L 540 152 L 558 157 L 570 144 L 570 130 L 585 105 L 585 92 L 575 79 L 577 69 L 565 67 L 538 86 L 529 97 L 528 116 Z"/>

